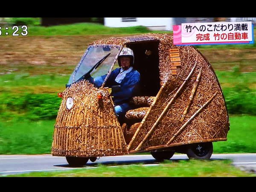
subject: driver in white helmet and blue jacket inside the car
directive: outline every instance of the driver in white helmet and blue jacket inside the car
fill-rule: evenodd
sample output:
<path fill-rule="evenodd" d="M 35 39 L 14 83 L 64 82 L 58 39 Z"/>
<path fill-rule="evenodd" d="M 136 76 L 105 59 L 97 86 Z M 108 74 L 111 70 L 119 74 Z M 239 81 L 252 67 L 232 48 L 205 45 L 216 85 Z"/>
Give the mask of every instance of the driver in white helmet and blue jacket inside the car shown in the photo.
<path fill-rule="evenodd" d="M 139 92 L 140 73 L 133 68 L 134 53 L 130 48 L 124 47 L 117 58 L 119 68 L 113 70 L 108 77 L 105 87 L 120 85 L 121 90 L 113 93 L 113 102 L 116 115 L 122 125 L 125 113 L 131 110 L 129 99 Z M 105 77 L 99 76 L 93 79 L 96 87 L 101 87 Z"/>

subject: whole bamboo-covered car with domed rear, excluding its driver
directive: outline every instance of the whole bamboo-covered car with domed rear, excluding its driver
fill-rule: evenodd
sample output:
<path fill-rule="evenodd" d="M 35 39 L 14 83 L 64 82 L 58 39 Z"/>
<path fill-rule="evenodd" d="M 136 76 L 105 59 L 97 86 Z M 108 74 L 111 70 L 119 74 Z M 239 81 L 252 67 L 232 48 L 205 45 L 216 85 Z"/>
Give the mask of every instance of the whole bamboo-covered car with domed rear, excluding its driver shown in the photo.
<path fill-rule="evenodd" d="M 123 47 L 134 51 L 141 94 L 131 98 L 134 109 L 121 126 L 111 89 L 104 83 L 96 88 L 82 77 L 111 73 Z M 138 152 L 150 152 L 156 160 L 168 160 L 175 152 L 209 159 L 212 142 L 226 141 L 230 129 L 211 64 L 192 46 L 176 47 L 167 34 L 94 41 L 61 97 L 51 153 L 65 156 L 71 165 Z"/>

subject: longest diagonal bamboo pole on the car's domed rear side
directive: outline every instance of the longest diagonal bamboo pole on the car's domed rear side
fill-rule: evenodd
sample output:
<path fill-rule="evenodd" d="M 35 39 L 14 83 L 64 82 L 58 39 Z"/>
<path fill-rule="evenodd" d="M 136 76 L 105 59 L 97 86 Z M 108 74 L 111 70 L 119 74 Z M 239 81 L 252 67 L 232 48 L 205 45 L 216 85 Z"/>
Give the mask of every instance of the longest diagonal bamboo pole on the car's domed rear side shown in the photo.
<path fill-rule="evenodd" d="M 157 121 L 154 123 L 154 125 L 151 127 L 151 129 L 148 131 L 148 133 L 146 134 L 146 136 L 143 138 L 143 140 L 140 142 L 140 144 L 137 146 L 137 148 L 135 149 L 135 151 L 138 151 L 140 149 L 140 147 L 143 145 L 143 143 L 145 142 L 145 140 L 151 136 L 151 134 L 154 132 L 154 130 L 157 128 L 157 125 L 159 124 L 159 122 L 163 119 L 163 117 L 166 115 L 166 113 L 168 112 L 170 106 L 172 105 L 172 102 L 176 99 L 177 95 L 180 93 L 180 90 L 183 89 L 184 85 L 186 84 L 186 81 L 189 80 L 189 78 L 191 77 L 192 73 L 195 70 L 195 67 L 197 65 L 197 60 L 198 60 L 198 56 L 196 58 L 195 61 L 195 65 L 192 68 L 192 70 L 190 71 L 189 75 L 187 76 L 187 78 L 183 81 L 183 83 L 181 84 L 181 86 L 179 87 L 179 89 L 177 90 L 177 92 L 175 93 L 175 95 L 172 97 L 172 99 L 169 101 L 169 103 L 166 105 L 166 107 L 164 108 L 163 112 L 161 113 L 161 115 L 158 117 Z"/>

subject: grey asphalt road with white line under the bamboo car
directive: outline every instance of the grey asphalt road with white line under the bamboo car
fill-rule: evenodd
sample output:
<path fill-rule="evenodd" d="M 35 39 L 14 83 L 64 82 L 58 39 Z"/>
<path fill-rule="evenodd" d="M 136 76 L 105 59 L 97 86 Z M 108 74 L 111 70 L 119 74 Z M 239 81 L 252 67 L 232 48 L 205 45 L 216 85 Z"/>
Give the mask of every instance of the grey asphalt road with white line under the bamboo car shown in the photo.
<path fill-rule="evenodd" d="M 175 154 L 171 160 L 186 160 L 185 154 Z M 242 170 L 256 173 L 256 154 L 212 154 L 211 160 L 229 159 L 234 166 Z M 86 166 L 72 167 L 65 157 L 56 157 L 51 154 L 43 155 L 0 155 L 0 175 L 21 174 L 26 172 L 41 172 L 70 169 L 93 169 L 98 163 L 111 166 L 130 165 L 132 163 L 143 163 L 145 166 L 157 166 L 151 155 L 122 155 L 111 157 L 100 157 L 94 163 L 90 160 Z"/>

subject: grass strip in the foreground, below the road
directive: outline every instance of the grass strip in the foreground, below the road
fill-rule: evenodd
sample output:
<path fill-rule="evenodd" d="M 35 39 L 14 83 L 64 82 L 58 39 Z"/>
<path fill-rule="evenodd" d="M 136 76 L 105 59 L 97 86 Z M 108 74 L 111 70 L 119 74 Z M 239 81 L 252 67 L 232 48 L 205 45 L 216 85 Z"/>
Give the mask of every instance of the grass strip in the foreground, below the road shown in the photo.
<path fill-rule="evenodd" d="M 156 166 L 98 166 L 72 171 L 32 172 L 9 177 L 253 177 L 228 160 L 165 161 Z M 221 169 L 220 169 L 221 167 Z"/>

